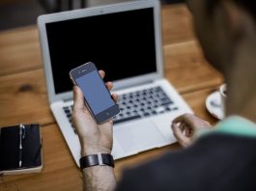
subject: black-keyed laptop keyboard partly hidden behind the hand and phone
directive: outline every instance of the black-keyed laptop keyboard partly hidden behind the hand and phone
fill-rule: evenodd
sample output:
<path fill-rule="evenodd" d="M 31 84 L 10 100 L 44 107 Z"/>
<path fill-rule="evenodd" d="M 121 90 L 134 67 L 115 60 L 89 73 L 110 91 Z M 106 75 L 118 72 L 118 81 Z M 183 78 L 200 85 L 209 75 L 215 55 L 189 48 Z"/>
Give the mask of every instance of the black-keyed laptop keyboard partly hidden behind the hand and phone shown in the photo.
<path fill-rule="evenodd" d="M 113 118 L 114 124 L 178 110 L 178 107 L 160 87 L 119 95 L 118 104 L 120 113 Z M 72 125 L 72 106 L 65 106 L 63 109 Z"/>

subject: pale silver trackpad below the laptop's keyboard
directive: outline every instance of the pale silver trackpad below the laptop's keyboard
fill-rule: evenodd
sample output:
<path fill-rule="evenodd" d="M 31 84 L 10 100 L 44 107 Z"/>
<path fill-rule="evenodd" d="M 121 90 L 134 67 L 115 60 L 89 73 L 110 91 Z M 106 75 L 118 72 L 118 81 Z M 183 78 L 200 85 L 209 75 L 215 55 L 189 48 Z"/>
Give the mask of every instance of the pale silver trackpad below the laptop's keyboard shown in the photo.
<path fill-rule="evenodd" d="M 165 141 L 152 122 L 119 126 L 115 129 L 115 137 L 125 152 L 153 149 Z"/>

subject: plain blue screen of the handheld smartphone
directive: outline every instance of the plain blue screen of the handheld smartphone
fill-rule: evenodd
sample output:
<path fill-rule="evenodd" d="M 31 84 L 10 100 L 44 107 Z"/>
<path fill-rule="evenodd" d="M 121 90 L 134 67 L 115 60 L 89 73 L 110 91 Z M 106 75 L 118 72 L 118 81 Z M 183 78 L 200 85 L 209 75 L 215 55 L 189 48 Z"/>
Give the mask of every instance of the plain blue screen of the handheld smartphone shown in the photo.
<path fill-rule="evenodd" d="M 115 105 L 97 70 L 75 79 L 95 115 Z"/>

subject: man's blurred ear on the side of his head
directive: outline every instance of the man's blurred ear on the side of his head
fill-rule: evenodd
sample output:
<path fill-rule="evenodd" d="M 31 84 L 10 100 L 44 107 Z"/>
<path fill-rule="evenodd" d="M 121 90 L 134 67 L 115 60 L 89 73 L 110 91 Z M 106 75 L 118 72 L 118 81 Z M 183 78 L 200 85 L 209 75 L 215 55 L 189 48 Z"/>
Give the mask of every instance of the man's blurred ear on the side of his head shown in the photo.
<path fill-rule="evenodd" d="M 242 7 L 232 1 L 221 1 L 222 12 L 226 21 L 227 32 L 233 41 L 239 41 L 248 29 L 248 19 L 251 19 Z"/>

